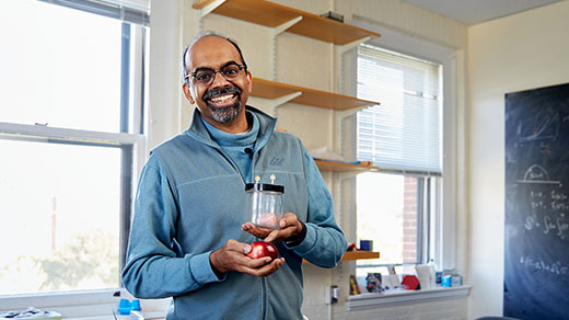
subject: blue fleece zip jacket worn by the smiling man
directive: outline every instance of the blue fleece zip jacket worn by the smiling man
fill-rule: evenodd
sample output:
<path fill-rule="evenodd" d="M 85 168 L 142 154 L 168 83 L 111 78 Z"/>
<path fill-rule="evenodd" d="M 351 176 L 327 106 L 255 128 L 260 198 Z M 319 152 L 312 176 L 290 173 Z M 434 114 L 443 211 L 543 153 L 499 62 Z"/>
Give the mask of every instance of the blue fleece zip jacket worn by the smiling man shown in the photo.
<path fill-rule="evenodd" d="M 166 319 L 302 319 L 302 259 L 335 266 L 347 242 L 330 194 L 299 138 L 275 132 L 276 119 L 247 106 L 259 121 L 252 175 L 284 185 L 283 212 L 306 225 L 295 247 L 276 242 L 286 263 L 267 277 L 236 272 L 218 278 L 209 255 L 230 240 L 251 243 L 243 178 L 209 135 L 196 110 L 186 132 L 153 149 L 137 191 L 126 288 L 138 298 L 173 297 Z"/>

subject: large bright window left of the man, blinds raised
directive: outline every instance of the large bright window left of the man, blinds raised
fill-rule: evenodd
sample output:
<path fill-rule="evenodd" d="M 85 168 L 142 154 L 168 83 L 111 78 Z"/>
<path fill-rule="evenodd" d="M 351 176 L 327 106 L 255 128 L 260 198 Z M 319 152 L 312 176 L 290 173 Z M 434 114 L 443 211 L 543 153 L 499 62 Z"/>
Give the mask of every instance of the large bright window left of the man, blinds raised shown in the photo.
<path fill-rule="evenodd" d="M 2 2 L 0 305 L 120 287 L 149 22 L 125 2 Z"/>

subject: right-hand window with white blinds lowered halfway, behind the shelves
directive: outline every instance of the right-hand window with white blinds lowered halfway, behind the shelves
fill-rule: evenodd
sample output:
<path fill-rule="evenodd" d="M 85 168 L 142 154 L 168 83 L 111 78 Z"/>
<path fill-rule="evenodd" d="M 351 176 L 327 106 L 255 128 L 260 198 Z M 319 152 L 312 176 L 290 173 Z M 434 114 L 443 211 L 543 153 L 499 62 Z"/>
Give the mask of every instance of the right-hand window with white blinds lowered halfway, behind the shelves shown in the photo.
<path fill-rule="evenodd" d="M 381 251 L 357 275 L 414 273 L 439 260 L 442 66 L 363 44 L 357 77 L 358 98 L 381 105 L 358 112 L 356 155 L 382 169 L 356 179 L 358 240 Z"/>

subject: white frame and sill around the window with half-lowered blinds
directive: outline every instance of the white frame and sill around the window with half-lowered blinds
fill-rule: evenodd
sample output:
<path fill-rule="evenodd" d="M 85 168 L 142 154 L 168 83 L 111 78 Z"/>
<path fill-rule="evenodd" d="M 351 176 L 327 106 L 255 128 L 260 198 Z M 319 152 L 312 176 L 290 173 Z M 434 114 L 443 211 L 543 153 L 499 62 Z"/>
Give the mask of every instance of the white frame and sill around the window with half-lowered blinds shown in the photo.
<path fill-rule="evenodd" d="M 402 34 L 399 32 L 386 28 L 379 27 L 378 25 L 371 24 L 363 20 L 358 20 L 355 18 L 351 24 L 374 31 L 380 33 L 382 36 L 379 38 L 372 38 L 367 44 L 371 44 L 378 46 L 380 48 L 385 48 L 392 52 L 400 53 L 404 55 L 408 55 L 411 57 L 417 57 L 420 59 L 433 61 L 442 65 L 443 68 L 443 134 L 442 134 L 442 183 L 440 184 L 440 197 L 438 201 L 440 202 L 440 210 L 438 213 L 437 226 L 439 228 L 438 238 L 433 239 L 437 241 L 437 252 L 436 252 L 436 261 L 437 267 L 440 270 L 444 268 L 455 268 L 457 265 L 456 261 L 456 90 L 457 90 L 457 66 L 456 66 L 456 52 L 442 47 L 440 45 L 429 43 L 423 39 L 419 39 L 417 37 L 413 37 L 406 34 Z M 348 56 L 351 55 L 351 56 Z M 347 75 L 349 78 L 349 91 L 351 91 L 352 95 L 357 94 L 357 49 L 352 49 L 345 56 L 345 59 L 349 59 L 351 67 L 350 75 Z M 346 80 L 346 79 L 342 79 Z M 346 83 L 346 82 L 345 82 Z M 380 101 L 381 103 L 381 101 Z M 356 125 L 352 126 L 352 129 L 356 129 Z M 355 134 L 353 134 L 355 135 Z M 353 148 L 352 155 L 356 155 L 356 144 L 351 144 Z M 355 188 L 353 184 L 353 188 Z M 352 191 L 352 194 L 356 194 L 356 191 Z M 439 205 L 438 205 L 439 206 Z M 352 220 L 356 219 L 356 213 L 352 213 Z M 352 226 L 352 231 L 357 232 L 356 226 Z M 450 294 L 440 294 L 438 290 L 423 292 L 420 293 L 421 298 L 415 299 L 409 298 L 408 295 L 381 295 L 381 294 L 371 294 L 365 295 L 365 298 L 358 296 L 348 297 L 348 307 L 350 305 L 355 306 L 357 304 L 357 308 L 373 308 L 378 306 L 393 305 L 393 304 L 413 304 L 420 302 L 425 299 L 448 299 L 448 298 L 457 298 L 464 297 L 469 292 L 469 286 L 463 286 L 465 290 L 453 290 L 456 295 Z M 418 292 L 417 292 L 418 293 Z M 419 295 L 419 294 L 416 294 Z M 350 302 L 353 301 L 353 302 Z M 357 301 L 357 302 L 356 302 Z M 349 307 L 350 309 L 350 307 Z M 352 308 L 355 309 L 355 308 Z"/>

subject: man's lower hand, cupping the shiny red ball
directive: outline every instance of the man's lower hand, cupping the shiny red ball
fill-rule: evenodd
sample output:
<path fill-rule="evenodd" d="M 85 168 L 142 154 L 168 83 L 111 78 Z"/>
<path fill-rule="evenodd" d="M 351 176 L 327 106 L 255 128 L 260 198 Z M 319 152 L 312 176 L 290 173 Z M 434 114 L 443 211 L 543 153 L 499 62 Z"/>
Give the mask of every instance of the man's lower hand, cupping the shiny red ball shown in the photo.
<path fill-rule="evenodd" d="M 230 271 L 254 276 L 268 276 L 284 263 L 284 258 L 274 261 L 269 256 L 251 259 L 247 256 L 249 252 L 249 244 L 230 239 L 221 249 L 211 252 L 209 263 L 218 277 Z"/>

